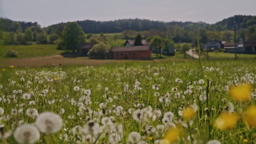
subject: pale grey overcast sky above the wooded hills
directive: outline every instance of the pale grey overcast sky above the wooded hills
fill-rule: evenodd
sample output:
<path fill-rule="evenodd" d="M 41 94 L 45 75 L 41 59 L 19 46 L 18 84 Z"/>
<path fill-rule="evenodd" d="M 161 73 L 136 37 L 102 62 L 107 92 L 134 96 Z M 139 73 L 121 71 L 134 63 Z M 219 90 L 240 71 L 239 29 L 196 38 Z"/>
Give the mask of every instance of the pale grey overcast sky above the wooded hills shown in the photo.
<path fill-rule="evenodd" d="M 215 23 L 234 15 L 256 15 L 256 0 L 0 0 L 0 17 L 42 27 L 77 20 L 140 18 Z"/>

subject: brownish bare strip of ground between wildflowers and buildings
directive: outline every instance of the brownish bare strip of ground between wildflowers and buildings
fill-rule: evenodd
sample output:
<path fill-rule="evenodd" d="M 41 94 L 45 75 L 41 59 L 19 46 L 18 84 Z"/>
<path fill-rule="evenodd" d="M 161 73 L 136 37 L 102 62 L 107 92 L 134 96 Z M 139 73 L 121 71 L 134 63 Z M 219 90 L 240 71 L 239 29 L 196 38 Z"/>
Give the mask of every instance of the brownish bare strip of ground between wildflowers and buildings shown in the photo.
<path fill-rule="evenodd" d="M 46 56 L 41 58 L 14 58 L 0 59 L 0 67 L 37 67 L 45 65 L 103 65 L 120 62 L 162 62 L 162 61 L 184 61 L 183 59 L 155 59 L 153 61 L 142 60 L 116 60 L 116 59 L 89 59 L 88 57 L 65 58 L 62 55 Z M 188 60 L 185 60 L 188 61 Z"/>

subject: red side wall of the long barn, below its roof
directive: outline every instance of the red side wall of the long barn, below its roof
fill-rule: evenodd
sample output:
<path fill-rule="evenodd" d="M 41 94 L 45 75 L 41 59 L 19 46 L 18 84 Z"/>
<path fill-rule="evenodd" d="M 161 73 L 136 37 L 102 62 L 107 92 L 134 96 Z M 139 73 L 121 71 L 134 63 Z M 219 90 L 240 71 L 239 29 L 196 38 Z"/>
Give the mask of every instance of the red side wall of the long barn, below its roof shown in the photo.
<path fill-rule="evenodd" d="M 151 50 L 147 51 L 126 51 L 113 52 L 114 59 L 142 59 L 148 60 L 151 58 Z"/>

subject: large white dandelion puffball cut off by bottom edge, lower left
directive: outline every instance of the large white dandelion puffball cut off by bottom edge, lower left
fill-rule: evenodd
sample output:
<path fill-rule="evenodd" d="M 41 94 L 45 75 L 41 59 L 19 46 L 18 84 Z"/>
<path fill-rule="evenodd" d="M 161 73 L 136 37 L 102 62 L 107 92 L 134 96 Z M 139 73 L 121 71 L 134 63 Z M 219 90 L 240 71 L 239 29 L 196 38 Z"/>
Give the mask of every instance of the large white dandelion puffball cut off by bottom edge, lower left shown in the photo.
<path fill-rule="evenodd" d="M 24 124 L 16 128 L 13 137 L 19 144 L 34 144 L 40 138 L 40 132 L 32 124 Z"/>

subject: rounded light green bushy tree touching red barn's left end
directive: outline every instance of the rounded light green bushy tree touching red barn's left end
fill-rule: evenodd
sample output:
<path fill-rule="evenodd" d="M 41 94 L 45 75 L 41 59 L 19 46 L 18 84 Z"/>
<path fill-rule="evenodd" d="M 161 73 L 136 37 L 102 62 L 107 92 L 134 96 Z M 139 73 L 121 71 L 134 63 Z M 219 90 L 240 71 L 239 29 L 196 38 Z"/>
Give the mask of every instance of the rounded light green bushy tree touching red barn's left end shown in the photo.
<path fill-rule="evenodd" d="M 100 42 L 92 47 L 87 53 L 89 56 L 95 56 L 96 58 L 104 58 L 104 55 L 109 51 L 107 45 Z"/>

